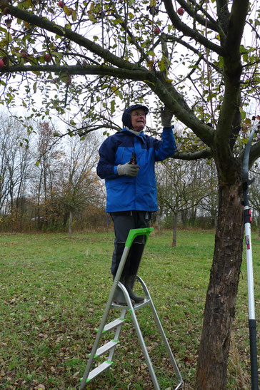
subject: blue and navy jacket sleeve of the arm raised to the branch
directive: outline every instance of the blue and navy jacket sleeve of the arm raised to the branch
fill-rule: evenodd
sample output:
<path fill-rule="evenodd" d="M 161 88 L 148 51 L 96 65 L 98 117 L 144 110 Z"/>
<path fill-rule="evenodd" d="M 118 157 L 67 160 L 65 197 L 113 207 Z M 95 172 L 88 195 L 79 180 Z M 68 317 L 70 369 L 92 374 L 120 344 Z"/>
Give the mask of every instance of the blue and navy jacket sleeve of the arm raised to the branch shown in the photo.
<path fill-rule="evenodd" d="M 161 133 L 161 140 L 155 140 L 154 151 L 155 160 L 162 161 L 166 158 L 172 157 L 176 150 L 176 143 L 172 126 L 164 128 Z"/>

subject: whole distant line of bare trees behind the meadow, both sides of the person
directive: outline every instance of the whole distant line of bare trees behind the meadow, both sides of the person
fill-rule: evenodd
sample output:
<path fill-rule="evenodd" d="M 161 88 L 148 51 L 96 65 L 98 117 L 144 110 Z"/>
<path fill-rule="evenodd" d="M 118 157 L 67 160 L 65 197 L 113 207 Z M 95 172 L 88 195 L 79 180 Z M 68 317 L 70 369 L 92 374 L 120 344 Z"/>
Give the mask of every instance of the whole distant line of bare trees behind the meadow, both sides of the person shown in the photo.
<path fill-rule="evenodd" d="M 64 232 L 111 227 L 104 183 L 96 175 L 101 139 L 96 133 L 56 138 L 51 123 L 24 126 L 0 114 L 0 232 Z M 28 133 L 28 128 L 31 132 Z M 251 205 L 260 211 L 259 168 Z M 169 159 L 156 164 L 159 211 L 154 225 L 214 228 L 217 173 L 212 160 Z M 256 220 L 255 220 L 256 222 Z"/>

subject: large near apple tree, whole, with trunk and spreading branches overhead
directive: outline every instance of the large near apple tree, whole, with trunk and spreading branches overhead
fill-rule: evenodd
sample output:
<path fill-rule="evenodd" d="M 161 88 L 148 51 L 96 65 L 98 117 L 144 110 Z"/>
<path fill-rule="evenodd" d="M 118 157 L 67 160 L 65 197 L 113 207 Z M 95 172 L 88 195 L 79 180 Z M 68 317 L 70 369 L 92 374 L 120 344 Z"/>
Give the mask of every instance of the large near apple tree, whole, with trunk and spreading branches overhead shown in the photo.
<path fill-rule="evenodd" d="M 81 135 L 111 127 L 111 116 L 129 101 L 150 101 L 155 116 L 164 104 L 197 140 L 177 140 L 182 148 L 175 158 L 214 159 L 219 214 L 196 388 L 225 389 L 243 250 L 241 128 L 250 127 L 246 109 L 259 100 L 257 1 L 68 0 L 60 7 L 51 0 L 1 0 L 1 9 L 4 103 L 16 105 L 19 95 L 32 115 L 48 117 L 74 102 L 71 125 L 79 111 L 91 118 L 85 130 L 76 126 Z M 26 81 L 24 90 L 14 78 Z M 257 137 L 250 167 L 260 155 Z"/>

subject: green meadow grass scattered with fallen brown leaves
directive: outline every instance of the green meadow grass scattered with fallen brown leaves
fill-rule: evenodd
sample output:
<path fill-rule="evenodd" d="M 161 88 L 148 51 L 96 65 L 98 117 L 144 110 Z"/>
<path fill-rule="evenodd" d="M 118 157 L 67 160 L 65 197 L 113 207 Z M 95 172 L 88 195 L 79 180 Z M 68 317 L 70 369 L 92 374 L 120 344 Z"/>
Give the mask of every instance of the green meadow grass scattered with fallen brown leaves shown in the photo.
<path fill-rule="evenodd" d="M 79 387 L 109 297 L 113 242 L 112 232 L 77 234 L 72 239 L 63 234 L 0 236 L 0 389 Z M 252 247 L 259 319 L 260 242 L 254 234 Z M 213 250 L 212 232 L 180 231 L 176 248 L 171 248 L 171 232 L 152 234 L 139 270 L 184 389 L 194 389 Z M 229 388 L 239 390 L 250 387 L 245 261 L 241 271 L 228 374 Z M 118 315 L 112 311 L 109 318 Z M 136 316 L 161 389 L 174 389 L 174 370 L 149 307 Z M 153 389 L 129 314 L 120 341 L 114 366 L 87 389 Z"/>

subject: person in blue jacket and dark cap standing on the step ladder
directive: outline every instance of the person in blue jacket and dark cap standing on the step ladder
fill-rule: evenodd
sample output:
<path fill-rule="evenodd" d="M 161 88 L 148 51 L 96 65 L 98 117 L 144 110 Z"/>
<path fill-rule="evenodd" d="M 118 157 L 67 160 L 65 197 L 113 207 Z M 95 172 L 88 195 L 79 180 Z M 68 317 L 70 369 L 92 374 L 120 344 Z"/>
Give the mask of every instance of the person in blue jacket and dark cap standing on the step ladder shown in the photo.
<path fill-rule="evenodd" d="M 106 183 L 106 212 L 114 222 L 114 252 L 111 273 L 116 275 L 124 252 L 129 230 L 149 227 L 151 215 L 158 210 L 154 164 L 174 155 L 171 118 L 173 114 L 161 110 L 163 131 L 161 140 L 146 135 L 146 115 L 149 109 L 134 104 L 123 113 L 124 128 L 110 135 L 99 148 L 97 174 Z M 133 303 L 144 301 L 134 293 L 134 281 L 144 250 L 145 236 L 136 237 L 126 259 L 120 282 L 124 284 Z M 126 304 L 124 294 L 117 287 L 114 294 L 117 304 Z"/>

